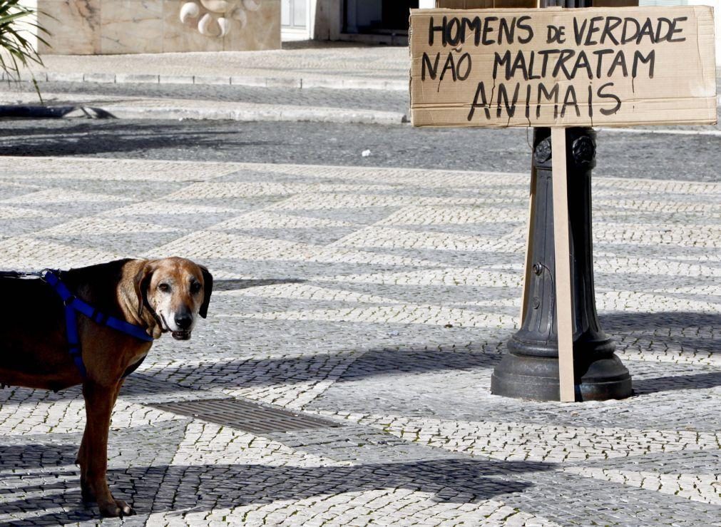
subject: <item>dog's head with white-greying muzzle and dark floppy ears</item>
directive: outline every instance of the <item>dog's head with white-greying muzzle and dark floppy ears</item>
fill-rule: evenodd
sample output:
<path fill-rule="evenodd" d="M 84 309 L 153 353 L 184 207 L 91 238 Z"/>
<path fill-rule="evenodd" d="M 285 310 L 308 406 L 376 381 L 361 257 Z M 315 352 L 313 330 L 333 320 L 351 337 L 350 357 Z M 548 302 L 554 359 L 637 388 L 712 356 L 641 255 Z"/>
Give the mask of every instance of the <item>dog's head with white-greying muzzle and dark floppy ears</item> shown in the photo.
<path fill-rule="evenodd" d="M 176 340 L 188 340 L 198 315 L 208 315 L 213 276 L 202 265 L 178 257 L 147 260 L 133 282 L 138 316 L 147 309 L 160 332 Z"/>

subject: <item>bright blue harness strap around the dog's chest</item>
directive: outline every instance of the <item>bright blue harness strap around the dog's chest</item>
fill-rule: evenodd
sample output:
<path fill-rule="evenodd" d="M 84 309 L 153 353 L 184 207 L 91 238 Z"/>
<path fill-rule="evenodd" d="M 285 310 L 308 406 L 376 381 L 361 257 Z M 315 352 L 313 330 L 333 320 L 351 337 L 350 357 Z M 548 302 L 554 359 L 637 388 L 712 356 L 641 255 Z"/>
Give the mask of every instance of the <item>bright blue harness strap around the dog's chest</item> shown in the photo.
<path fill-rule="evenodd" d="M 146 342 L 152 342 L 154 340 L 153 337 L 148 335 L 142 327 L 125 322 L 125 320 L 115 318 L 115 316 L 103 314 L 87 302 L 76 297 L 70 292 L 60 278 L 58 278 L 57 271 L 45 269 L 41 278 L 45 280 L 45 282 L 48 283 L 48 285 L 50 285 L 56 293 L 58 293 L 58 296 L 60 296 L 63 301 L 63 306 L 65 306 L 65 326 L 68 338 L 68 353 L 70 353 L 75 366 L 78 368 L 80 375 L 83 378 L 87 377 L 87 370 L 85 369 L 85 364 L 83 363 L 80 336 L 78 335 L 78 313 L 84 314 L 97 324 L 110 327 L 115 329 L 115 331 L 125 333 L 125 335 L 136 337 L 136 339 L 144 340 Z M 128 372 L 128 374 L 129 373 L 131 372 Z"/>

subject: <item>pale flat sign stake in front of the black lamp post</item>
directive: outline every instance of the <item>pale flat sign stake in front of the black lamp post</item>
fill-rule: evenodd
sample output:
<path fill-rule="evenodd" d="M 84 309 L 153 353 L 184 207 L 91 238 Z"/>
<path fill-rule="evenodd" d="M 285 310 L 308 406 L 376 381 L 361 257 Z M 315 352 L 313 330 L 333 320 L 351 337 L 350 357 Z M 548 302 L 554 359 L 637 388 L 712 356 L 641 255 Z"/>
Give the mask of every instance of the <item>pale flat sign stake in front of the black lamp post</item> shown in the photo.
<path fill-rule="evenodd" d="M 553 159 L 553 238 L 556 250 L 556 314 L 558 322 L 559 389 L 562 402 L 575 401 L 573 373 L 573 306 L 571 251 L 568 231 L 566 130 L 551 129 Z"/>

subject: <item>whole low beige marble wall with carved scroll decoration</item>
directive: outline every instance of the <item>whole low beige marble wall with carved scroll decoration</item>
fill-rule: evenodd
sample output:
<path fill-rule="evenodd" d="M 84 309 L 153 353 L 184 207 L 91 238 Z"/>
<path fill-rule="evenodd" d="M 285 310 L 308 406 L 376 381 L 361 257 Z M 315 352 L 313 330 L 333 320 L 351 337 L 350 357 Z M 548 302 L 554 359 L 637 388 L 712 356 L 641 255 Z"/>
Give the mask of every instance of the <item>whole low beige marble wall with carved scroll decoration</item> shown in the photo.
<path fill-rule="evenodd" d="M 45 54 L 161 53 L 280 48 L 280 0 L 27 0 L 52 35 Z M 198 17 L 180 21 L 187 2 Z M 205 26 L 200 19 L 206 16 Z M 224 35 L 221 25 L 225 26 Z"/>

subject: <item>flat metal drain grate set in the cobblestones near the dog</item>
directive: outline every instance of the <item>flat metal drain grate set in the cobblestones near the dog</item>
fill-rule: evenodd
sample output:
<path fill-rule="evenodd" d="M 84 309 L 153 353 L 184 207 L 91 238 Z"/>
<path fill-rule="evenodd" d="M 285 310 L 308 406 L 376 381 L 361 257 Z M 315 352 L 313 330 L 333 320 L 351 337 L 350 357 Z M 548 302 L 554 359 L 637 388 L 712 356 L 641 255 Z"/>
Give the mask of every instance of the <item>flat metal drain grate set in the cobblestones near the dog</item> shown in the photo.
<path fill-rule="evenodd" d="M 296 414 L 241 399 L 196 399 L 195 401 L 149 403 L 148 406 L 166 412 L 190 415 L 203 421 L 238 428 L 253 434 L 340 426 L 337 422 L 319 417 Z"/>

